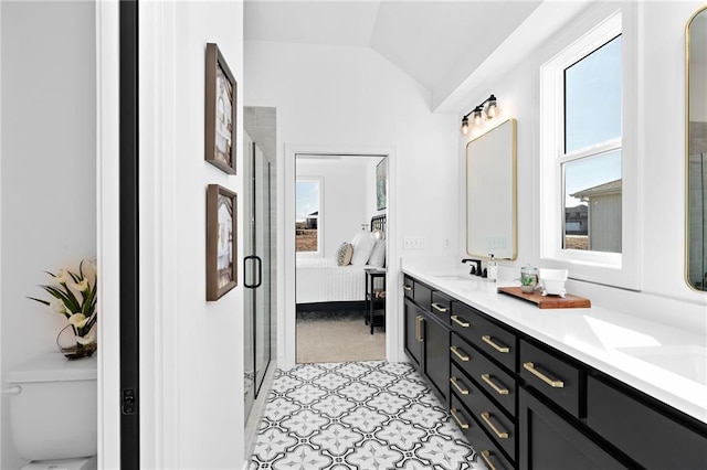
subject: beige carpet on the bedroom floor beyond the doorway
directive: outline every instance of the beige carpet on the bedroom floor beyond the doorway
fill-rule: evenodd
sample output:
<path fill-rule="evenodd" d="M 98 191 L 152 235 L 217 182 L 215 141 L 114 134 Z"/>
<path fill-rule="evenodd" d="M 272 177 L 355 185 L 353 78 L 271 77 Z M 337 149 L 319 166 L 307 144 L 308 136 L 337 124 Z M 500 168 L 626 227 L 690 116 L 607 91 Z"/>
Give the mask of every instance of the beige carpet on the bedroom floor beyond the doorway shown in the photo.
<path fill-rule="evenodd" d="M 380 361 L 386 359 L 386 332 L 362 317 L 297 320 L 297 363 Z"/>

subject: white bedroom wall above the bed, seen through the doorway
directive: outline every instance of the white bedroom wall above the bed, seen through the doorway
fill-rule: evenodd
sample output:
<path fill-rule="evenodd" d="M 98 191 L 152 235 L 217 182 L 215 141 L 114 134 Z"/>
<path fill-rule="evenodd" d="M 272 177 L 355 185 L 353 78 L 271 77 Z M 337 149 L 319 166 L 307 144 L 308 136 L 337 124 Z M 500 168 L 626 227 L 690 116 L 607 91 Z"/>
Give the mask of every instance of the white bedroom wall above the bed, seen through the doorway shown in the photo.
<path fill-rule="evenodd" d="M 366 210 L 367 158 L 345 157 L 330 162 L 297 159 L 297 177 L 319 177 L 323 181 L 324 237 L 321 257 L 333 258 L 344 242 L 351 242 L 361 224 L 370 223 Z"/>

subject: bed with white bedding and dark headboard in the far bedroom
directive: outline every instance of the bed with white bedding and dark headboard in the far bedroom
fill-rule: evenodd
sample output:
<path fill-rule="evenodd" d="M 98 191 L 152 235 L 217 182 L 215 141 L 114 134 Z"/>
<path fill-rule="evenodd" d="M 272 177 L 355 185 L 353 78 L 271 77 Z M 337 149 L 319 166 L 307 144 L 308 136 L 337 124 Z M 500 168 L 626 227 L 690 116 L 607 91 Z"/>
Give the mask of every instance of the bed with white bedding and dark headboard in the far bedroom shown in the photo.
<path fill-rule="evenodd" d="M 381 235 L 386 233 L 384 214 L 371 218 L 371 233 L 377 231 Z M 383 244 L 384 249 L 384 236 L 377 243 Z M 363 269 L 367 267 L 370 266 L 338 266 L 335 258 L 298 258 L 297 311 L 362 309 L 366 299 Z"/>

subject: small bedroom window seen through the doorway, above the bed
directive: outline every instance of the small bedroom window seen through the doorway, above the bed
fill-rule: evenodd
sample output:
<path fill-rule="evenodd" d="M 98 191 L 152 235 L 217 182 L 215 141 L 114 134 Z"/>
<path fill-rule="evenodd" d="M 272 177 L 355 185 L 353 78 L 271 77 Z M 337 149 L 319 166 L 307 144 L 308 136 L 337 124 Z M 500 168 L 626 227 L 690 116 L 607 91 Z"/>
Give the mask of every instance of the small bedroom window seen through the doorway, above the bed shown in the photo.
<path fill-rule="evenodd" d="M 295 252 L 320 253 L 321 180 L 297 179 L 295 200 Z"/>

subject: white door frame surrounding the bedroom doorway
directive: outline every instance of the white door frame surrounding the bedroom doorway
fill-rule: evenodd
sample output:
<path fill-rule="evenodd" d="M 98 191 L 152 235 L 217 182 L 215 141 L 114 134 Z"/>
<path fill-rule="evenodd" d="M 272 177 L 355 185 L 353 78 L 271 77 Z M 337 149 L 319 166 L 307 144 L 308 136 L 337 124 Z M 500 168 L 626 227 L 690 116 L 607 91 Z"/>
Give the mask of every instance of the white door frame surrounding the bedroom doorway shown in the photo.
<path fill-rule="evenodd" d="M 284 263 L 281 268 L 284 271 L 284 279 L 287 281 L 279 284 L 284 287 L 284 305 L 278 309 L 277 331 L 281 341 L 278 364 L 281 367 L 294 367 L 296 360 L 296 307 L 295 307 L 295 278 L 296 278 L 296 256 L 295 256 L 295 160 L 299 154 L 307 156 L 360 156 L 360 157 L 388 157 L 388 207 L 387 207 L 387 233 L 388 241 L 386 253 L 386 286 L 388 296 L 386 298 L 386 359 L 391 362 L 402 361 L 402 323 L 400 314 L 401 282 L 400 258 L 398 257 L 398 160 L 395 149 L 392 147 L 351 147 L 351 146 L 317 146 L 317 145 L 285 145 L 284 161 L 284 227 L 279 233 L 284 234 Z"/>

